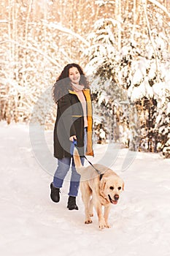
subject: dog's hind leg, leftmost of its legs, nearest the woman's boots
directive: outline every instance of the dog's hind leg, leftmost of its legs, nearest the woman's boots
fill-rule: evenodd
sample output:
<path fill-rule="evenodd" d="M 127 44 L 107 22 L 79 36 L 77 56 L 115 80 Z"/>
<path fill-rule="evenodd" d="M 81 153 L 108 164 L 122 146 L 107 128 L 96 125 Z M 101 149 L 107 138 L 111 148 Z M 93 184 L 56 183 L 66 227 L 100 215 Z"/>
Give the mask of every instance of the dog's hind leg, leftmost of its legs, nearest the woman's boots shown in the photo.
<path fill-rule="evenodd" d="M 82 202 L 85 206 L 85 224 L 92 223 L 92 219 L 90 218 L 90 211 L 89 211 L 89 205 L 90 205 L 90 195 L 91 190 L 88 187 L 87 184 L 81 183 L 81 192 L 82 192 Z"/>

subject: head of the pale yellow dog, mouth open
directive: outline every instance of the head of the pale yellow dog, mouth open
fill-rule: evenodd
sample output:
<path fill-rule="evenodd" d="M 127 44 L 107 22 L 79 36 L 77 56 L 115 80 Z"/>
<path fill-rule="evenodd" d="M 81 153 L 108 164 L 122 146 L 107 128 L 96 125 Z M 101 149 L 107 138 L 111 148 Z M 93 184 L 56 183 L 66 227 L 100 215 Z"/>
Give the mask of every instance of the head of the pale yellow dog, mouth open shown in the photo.
<path fill-rule="evenodd" d="M 122 178 L 116 175 L 103 176 L 101 178 L 99 189 L 101 195 L 110 203 L 117 204 L 120 193 L 124 190 Z"/>

